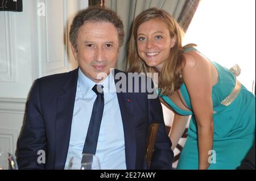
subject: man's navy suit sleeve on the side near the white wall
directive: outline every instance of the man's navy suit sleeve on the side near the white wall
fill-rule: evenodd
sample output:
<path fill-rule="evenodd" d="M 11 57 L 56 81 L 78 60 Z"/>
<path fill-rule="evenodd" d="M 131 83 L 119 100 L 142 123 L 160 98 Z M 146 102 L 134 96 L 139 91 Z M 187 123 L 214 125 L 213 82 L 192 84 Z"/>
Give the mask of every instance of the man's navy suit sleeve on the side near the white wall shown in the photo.
<path fill-rule="evenodd" d="M 40 105 L 40 79 L 37 79 L 27 101 L 22 132 L 17 143 L 19 169 L 45 169 L 46 133 Z"/>

